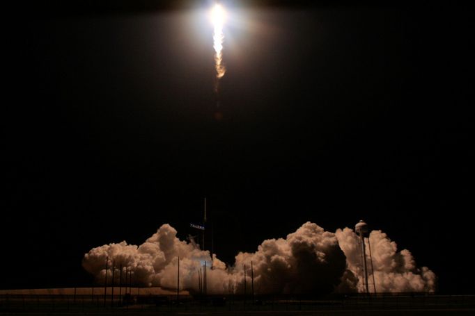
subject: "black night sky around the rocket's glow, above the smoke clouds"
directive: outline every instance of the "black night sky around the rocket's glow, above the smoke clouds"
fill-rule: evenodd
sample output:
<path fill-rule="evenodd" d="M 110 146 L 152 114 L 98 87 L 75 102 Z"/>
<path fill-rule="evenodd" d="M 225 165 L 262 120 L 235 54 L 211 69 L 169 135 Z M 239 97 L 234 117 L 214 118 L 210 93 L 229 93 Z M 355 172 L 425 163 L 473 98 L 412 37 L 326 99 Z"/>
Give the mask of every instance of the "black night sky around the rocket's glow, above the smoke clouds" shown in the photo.
<path fill-rule="evenodd" d="M 228 263 L 362 218 L 473 292 L 467 8 L 227 1 L 217 97 L 207 1 L 63 2 L 6 17 L 1 288 L 89 285 L 89 249 L 184 239 L 208 197 Z"/>

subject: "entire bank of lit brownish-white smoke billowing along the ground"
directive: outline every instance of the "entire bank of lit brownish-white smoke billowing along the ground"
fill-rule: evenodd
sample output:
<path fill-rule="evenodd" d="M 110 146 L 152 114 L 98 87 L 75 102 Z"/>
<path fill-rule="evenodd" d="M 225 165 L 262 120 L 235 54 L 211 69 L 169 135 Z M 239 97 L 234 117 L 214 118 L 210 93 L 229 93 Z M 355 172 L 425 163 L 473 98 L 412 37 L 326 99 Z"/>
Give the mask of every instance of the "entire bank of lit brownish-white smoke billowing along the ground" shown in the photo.
<path fill-rule="evenodd" d="M 286 238 L 264 240 L 254 253 L 237 253 L 235 264 L 229 267 L 176 234 L 175 228 L 163 224 L 139 246 L 123 241 L 93 248 L 85 254 L 83 267 L 98 283 L 104 283 L 107 273 L 110 283 L 114 261 L 116 283 L 122 267 L 123 273 L 131 272 L 134 285 L 176 289 L 179 257 L 181 290 L 198 292 L 198 271 L 206 265 L 208 293 L 227 294 L 243 292 L 244 282 L 249 288 L 252 263 L 256 294 L 364 292 L 357 262 L 358 236 L 350 228 L 332 233 L 306 222 Z M 416 267 L 412 253 L 398 251 L 385 233 L 372 231 L 366 243 L 366 247 L 371 244 L 377 292 L 435 291 L 435 274 L 428 267 Z"/>

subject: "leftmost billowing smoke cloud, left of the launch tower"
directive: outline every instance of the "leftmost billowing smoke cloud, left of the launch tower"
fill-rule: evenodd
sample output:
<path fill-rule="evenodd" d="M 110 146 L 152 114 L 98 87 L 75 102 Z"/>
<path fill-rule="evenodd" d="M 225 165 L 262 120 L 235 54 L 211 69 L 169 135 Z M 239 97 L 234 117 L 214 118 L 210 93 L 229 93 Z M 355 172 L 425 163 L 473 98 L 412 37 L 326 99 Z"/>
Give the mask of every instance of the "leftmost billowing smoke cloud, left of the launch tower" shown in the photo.
<path fill-rule="evenodd" d="M 205 261 L 210 265 L 210 253 L 178 240 L 176 233 L 175 228 L 164 224 L 157 233 L 139 247 L 123 241 L 93 248 L 84 255 L 83 267 L 95 275 L 98 282 L 103 282 L 106 258 L 109 258 L 107 270 L 109 280 L 112 276 L 111 263 L 114 261 L 117 269 L 116 277 L 122 266 L 123 272 L 126 269 L 132 272 L 134 284 L 171 289 L 176 288 L 178 257 L 180 257 L 180 278 L 182 279 L 180 287 L 193 288 L 193 278 L 196 278 L 196 284 L 198 283 L 198 269 Z M 218 262 L 216 265 L 222 267 Z M 118 278 L 115 282 L 118 283 Z"/>

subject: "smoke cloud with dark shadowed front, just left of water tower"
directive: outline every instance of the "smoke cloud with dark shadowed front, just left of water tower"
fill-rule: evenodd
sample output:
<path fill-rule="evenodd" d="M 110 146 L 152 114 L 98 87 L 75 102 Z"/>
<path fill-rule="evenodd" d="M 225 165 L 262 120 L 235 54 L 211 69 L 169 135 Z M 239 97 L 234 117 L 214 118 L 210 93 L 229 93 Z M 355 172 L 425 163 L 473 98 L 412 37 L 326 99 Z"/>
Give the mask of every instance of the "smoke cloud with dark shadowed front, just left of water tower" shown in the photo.
<path fill-rule="evenodd" d="M 255 253 L 239 253 L 235 267 L 251 261 L 259 293 L 332 292 L 345 271 L 335 234 L 310 222 L 286 239 L 265 240 Z"/>

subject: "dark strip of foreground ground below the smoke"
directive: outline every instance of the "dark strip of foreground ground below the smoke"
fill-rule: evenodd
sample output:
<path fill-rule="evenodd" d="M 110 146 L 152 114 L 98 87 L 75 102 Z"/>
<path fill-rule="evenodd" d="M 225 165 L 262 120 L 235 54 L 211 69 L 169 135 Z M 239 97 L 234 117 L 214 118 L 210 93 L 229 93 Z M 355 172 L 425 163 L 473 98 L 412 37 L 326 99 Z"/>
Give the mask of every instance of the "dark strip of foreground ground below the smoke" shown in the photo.
<path fill-rule="evenodd" d="M 80 291 L 77 291 L 80 292 Z M 475 315 L 475 295 L 0 294 L 0 315 Z"/>

